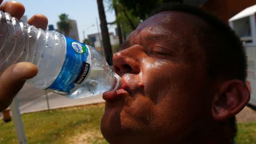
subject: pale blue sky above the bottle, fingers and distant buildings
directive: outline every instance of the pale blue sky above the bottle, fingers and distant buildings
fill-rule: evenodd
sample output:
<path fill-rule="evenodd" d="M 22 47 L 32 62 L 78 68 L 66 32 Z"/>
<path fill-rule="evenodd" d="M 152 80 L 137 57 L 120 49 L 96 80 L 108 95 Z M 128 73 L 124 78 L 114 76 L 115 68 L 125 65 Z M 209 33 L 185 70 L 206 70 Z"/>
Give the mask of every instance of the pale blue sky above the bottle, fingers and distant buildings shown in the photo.
<path fill-rule="evenodd" d="M 98 5 L 96 0 L 16 0 L 22 3 L 25 8 L 25 15 L 28 19 L 36 14 L 42 13 L 46 15 L 49 20 L 49 24 L 54 25 L 57 29 L 56 23 L 59 21 L 59 15 L 66 13 L 70 19 L 74 19 L 77 22 L 78 33 L 80 41 L 83 40 L 83 31 L 85 36 L 88 34 L 98 33 L 96 26 L 96 19 L 100 25 Z M 3 2 L 6 2 L 4 0 Z M 108 4 L 104 3 L 107 22 L 115 20 L 114 11 L 109 10 Z M 92 26 L 94 25 L 94 26 Z M 116 26 L 109 26 L 109 32 L 114 32 Z M 100 26 L 99 26 L 100 29 Z"/>

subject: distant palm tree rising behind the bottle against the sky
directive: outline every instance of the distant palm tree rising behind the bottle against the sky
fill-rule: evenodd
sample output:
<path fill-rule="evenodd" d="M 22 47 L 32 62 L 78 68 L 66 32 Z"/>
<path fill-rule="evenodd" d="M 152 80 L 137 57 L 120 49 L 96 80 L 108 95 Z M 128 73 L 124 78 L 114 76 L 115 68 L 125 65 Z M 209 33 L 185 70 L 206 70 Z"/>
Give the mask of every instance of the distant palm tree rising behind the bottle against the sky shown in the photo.
<path fill-rule="evenodd" d="M 66 36 L 69 34 L 71 29 L 71 20 L 68 18 L 68 14 L 62 13 L 59 15 L 60 21 L 57 22 L 58 29 Z"/>

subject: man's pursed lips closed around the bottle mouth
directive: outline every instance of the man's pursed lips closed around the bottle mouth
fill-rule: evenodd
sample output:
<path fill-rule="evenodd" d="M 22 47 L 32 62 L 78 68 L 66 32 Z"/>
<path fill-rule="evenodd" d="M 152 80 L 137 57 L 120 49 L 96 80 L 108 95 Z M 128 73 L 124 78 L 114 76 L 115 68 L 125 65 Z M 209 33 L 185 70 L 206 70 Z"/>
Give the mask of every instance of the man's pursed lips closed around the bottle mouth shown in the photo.
<path fill-rule="evenodd" d="M 127 86 L 127 83 L 123 78 L 121 78 L 121 86 L 117 90 L 107 91 L 103 93 L 102 98 L 106 101 L 114 101 L 117 100 L 117 98 L 122 97 L 122 95 L 129 95 L 129 86 Z"/>

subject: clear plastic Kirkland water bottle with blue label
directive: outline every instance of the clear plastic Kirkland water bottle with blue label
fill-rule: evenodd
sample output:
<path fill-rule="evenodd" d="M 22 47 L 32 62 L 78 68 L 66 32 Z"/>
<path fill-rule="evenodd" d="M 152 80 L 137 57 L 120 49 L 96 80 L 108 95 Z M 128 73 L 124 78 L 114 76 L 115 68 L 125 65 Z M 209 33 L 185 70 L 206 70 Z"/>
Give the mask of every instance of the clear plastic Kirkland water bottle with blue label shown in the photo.
<path fill-rule="evenodd" d="M 121 85 L 120 77 L 92 46 L 0 11 L 0 73 L 21 61 L 38 68 L 38 74 L 27 83 L 68 98 L 90 97 Z"/>

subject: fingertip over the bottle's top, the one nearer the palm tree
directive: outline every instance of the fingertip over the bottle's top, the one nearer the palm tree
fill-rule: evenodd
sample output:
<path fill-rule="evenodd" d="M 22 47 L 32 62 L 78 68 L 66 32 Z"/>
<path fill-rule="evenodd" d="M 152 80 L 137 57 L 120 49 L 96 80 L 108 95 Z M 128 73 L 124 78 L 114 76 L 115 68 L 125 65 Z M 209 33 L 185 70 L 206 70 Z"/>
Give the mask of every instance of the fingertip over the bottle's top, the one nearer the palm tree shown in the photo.
<path fill-rule="evenodd" d="M 28 20 L 29 25 L 33 25 L 37 28 L 46 30 L 48 25 L 48 19 L 43 14 L 35 14 Z"/>

